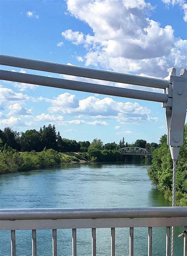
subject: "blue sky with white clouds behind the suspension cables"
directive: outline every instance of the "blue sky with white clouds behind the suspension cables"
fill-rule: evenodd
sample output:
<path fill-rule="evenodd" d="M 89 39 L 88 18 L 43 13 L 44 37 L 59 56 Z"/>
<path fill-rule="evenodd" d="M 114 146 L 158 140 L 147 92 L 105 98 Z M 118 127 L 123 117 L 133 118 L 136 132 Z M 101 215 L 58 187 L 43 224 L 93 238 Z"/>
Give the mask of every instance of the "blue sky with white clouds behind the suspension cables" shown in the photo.
<path fill-rule="evenodd" d="M 187 68 L 185 0 L 1 0 L 0 52 L 24 58 L 164 79 Z M 13 72 L 138 90 L 160 89 L 95 81 L 15 67 Z M 161 103 L 0 81 L 0 129 L 18 132 L 54 124 L 77 141 L 122 137 L 159 142 L 166 133 Z"/>

